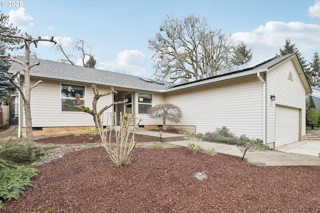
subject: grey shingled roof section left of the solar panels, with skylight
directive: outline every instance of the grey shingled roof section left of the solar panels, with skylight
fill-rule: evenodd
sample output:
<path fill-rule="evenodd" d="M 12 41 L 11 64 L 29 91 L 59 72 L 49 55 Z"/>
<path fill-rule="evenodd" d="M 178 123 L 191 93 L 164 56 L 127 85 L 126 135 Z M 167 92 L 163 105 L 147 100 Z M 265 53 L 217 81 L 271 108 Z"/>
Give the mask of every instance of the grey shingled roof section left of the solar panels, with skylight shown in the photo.
<path fill-rule="evenodd" d="M 24 56 L 17 56 L 16 59 L 24 61 Z M 40 62 L 40 64 L 33 66 L 30 69 L 30 76 L 148 91 L 159 91 L 168 85 L 167 82 L 129 74 L 87 68 L 38 58 L 30 58 L 30 65 L 37 62 Z M 23 75 L 22 66 L 18 63 L 13 63 L 9 72 L 13 73 L 18 70 L 20 70 L 20 74 Z"/>

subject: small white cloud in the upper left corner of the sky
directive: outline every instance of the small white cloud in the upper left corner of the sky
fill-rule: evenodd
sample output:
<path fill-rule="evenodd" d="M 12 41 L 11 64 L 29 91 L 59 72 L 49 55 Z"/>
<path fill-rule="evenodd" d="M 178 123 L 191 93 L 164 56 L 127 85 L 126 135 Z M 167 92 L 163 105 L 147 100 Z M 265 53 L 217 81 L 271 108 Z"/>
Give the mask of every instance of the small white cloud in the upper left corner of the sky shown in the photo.
<path fill-rule="evenodd" d="M 34 25 L 32 22 L 33 17 L 26 14 L 23 7 L 19 7 L 17 10 L 11 9 L 9 11 L 9 21 L 13 26 L 17 26 L 21 31 L 27 31 Z"/>

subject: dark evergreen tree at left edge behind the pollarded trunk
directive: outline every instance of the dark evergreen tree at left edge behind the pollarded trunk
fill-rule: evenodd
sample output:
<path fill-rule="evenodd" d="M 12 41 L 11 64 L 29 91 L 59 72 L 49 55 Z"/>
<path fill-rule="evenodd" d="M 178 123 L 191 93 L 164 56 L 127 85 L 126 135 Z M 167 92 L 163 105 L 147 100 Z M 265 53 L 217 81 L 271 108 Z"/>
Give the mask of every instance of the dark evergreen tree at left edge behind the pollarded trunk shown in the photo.
<path fill-rule="evenodd" d="M 1 54 L 5 54 L 5 46 L 0 41 L 0 55 Z M 12 83 L 10 83 L 10 81 L 7 78 L 5 78 L 3 74 L 1 74 L 1 72 L 7 73 L 9 67 L 9 62 L 0 58 L 0 103 L 2 102 L 2 100 L 8 103 L 10 94 L 16 91 L 15 86 Z"/>

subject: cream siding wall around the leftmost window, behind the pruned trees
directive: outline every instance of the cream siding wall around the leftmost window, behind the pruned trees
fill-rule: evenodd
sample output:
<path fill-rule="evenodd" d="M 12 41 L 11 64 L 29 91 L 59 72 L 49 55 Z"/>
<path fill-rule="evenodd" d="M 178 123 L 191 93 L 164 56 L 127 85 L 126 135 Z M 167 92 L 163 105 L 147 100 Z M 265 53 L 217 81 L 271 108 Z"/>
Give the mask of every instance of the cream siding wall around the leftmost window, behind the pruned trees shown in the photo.
<path fill-rule="evenodd" d="M 39 80 L 32 79 L 31 84 Z M 60 98 L 60 83 L 70 83 L 66 81 L 43 79 L 43 83 L 38 84 L 31 91 L 31 116 L 33 127 L 50 126 L 90 126 L 94 125 L 92 115 L 85 112 L 62 112 Z M 85 86 L 85 105 L 92 108 L 93 92 L 91 84 L 70 83 Z M 110 90 L 107 86 L 98 86 L 99 93 Z M 101 97 L 98 100 L 97 108 L 110 104 L 112 94 Z M 111 108 L 107 111 L 111 111 Z M 24 113 L 23 113 L 23 120 Z M 25 127 L 25 122 L 23 123 Z"/>

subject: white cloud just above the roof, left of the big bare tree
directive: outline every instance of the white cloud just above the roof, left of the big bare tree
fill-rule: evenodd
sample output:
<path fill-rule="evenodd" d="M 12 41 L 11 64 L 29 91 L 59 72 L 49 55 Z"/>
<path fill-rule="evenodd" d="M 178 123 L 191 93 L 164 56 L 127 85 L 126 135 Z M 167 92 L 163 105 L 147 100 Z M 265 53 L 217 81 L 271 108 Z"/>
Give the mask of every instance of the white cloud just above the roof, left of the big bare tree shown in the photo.
<path fill-rule="evenodd" d="M 141 76 L 146 72 L 144 58 L 141 51 L 126 49 L 119 52 L 112 61 L 97 62 L 95 68 Z"/>

